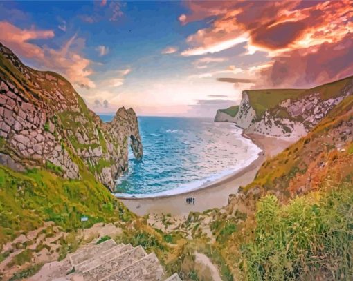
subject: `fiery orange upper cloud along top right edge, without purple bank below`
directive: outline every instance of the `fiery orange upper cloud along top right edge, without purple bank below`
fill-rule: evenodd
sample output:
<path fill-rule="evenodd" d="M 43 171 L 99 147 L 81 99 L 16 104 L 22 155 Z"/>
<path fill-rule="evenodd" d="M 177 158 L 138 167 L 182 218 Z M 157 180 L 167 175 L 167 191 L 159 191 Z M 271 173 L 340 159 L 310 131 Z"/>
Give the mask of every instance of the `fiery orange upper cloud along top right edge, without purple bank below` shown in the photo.
<path fill-rule="evenodd" d="M 216 17 L 210 28 L 190 35 L 187 42 L 194 50 L 221 46 L 224 50 L 249 35 L 248 43 L 267 50 L 278 50 L 305 44 L 342 39 L 352 32 L 350 0 L 332 2 L 301 1 L 197 1 L 189 2 L 192 13 L 183 23 Z M 310 4 L 310 5 L 309 5 Z M 215 6 L 217 8 L 212 9 Z M 301 5 L 309 5 L 301 8 Z M 192 10 L 197 9 L 197 10 Z M 242 42 L 242 40 L 239 40 Z M 215 49 L 217 51 L 217 48 Z M 194 52 L 192 55 L 202 55 Z"/>

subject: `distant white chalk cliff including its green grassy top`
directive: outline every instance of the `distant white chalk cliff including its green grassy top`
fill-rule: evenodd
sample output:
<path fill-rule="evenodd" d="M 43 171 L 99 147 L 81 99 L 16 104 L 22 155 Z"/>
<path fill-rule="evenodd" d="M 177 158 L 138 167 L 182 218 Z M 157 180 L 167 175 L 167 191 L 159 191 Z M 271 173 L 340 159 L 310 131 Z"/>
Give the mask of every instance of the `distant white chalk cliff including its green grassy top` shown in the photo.
<path fill-rule="evenodd" d="M 230 122 L 246 133 L 299 139 L 353 93 L 353 77 L 307 90 L 245 90 Z"/>

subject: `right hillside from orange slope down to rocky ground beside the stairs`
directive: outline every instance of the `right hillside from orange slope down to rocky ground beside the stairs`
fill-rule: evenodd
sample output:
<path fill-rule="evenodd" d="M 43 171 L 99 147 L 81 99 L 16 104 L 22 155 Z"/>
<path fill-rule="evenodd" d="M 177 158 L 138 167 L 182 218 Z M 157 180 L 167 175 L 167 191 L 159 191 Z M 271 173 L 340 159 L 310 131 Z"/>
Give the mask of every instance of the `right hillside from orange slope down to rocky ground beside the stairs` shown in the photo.
<path fill-rule="evenodd" d="M 351 280 L 352 211 L 349 96 L 311 133 L 267 159 L 226 207 L 186 220 L 166 214 L 161 226 L 152 224 L 158 235 L 141 224 L 118 241 L 146 245 L 183 280 L 210 278 L 195 253 L 208 256 L 222 280 Z"/>

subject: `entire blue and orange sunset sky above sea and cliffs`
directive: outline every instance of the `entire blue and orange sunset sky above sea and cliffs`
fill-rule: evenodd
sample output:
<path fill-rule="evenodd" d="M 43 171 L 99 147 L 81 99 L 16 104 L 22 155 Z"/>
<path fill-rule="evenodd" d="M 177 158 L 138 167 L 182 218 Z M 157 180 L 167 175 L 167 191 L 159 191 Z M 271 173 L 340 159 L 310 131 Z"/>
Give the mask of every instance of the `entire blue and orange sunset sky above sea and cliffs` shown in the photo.
<path fill-rule="evenodd" d="M 353 75 L 353 2 L 3 1 L 0 42 L 91 110 L 213 117 L 242 90 Z"/>

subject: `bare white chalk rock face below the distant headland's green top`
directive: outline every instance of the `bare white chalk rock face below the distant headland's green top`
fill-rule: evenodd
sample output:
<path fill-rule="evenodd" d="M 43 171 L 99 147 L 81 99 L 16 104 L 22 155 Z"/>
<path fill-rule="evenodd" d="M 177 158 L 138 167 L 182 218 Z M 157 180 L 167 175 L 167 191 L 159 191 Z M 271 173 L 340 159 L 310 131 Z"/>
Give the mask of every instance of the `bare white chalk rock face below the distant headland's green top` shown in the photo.
<path fill-rule="evenodd" d="M 296 99 L 286 99 L 266 110 L 260 118 L 256 117 L 255 110 L 249 103 L 248 93 L 244 91 L 239 111 L 230 122 L 237 123 L 245 133 L 300 139 L 303 135 L 307 135 L 309 130 L 329 113 L 329 110 L 348 95 L 352 95 L 353 78 L 348 80 L 344 88 L 338 90 L 338 93 L 331 93 L 334 97 L 326 100 L 322 99 L 318 92 Z"/>

